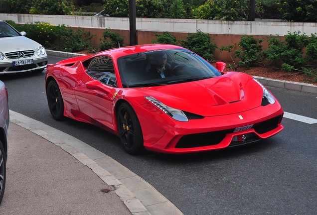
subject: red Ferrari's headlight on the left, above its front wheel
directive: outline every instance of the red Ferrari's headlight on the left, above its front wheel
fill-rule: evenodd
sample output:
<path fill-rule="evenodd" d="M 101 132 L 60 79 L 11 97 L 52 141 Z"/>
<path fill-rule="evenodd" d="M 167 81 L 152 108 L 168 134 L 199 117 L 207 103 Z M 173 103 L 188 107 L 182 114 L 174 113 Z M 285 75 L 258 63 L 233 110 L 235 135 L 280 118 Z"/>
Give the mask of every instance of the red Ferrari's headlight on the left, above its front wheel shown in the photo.
<path fill-rule="evenodd" d="M 159 100 L 153 98 L 153 97 L 145 97 L 149 102 L 151 102 L 153 105 L 155 105 L 157 108 L 159 108 L 161 111 L 172 117 L 173 119 L 177 121 L 188 121 L 188 118 L 183 113 L 183 111 L 175 108 L 168 107 L 164 105 L 163 103 L 159 102 Z"/>

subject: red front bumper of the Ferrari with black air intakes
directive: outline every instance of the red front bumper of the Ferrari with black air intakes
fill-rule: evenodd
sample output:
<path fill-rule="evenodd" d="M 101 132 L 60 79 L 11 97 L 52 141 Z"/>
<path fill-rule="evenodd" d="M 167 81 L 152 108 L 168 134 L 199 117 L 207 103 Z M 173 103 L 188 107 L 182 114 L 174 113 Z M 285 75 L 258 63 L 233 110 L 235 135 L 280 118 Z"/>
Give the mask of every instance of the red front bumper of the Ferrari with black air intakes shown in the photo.
<path fill-rule="evenodd" d="M 145 128 L 144 146 L 150 151 L 181 154 L 249 144 L 281 132 L 283 113 L 281 106 L 275 104 L 270 108 L 260 106 L 241 113 L 177 122 L 163 128 L 152 124 L 151 134 Z M 252 127 L 234 131 L 249 125 Z"/>

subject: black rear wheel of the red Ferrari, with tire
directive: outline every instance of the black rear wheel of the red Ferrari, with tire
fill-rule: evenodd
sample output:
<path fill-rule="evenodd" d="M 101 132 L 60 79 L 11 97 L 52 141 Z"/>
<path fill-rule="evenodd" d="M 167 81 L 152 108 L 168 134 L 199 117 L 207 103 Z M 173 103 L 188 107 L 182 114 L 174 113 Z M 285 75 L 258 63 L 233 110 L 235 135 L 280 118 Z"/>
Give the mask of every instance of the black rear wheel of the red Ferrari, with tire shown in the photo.
<path fill-rule="evenodd" d="M 51 80 L 46 88 L 46 96 L 49 111 L 56 120 L 64 118 L 64 102 L 59 87 L 54 80 Z"/>

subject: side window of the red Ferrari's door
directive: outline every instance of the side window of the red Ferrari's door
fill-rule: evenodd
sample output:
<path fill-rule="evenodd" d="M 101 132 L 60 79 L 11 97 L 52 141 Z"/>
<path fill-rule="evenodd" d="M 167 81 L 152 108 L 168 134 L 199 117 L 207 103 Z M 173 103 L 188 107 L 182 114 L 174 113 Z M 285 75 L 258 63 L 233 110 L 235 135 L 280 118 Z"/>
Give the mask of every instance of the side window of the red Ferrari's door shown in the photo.
<path fill-rule="evenodd" d="M 95 57 L 89 64 L 87 74 L 106 85 L 117 87 L 115 70 L 110 56 Z"/>

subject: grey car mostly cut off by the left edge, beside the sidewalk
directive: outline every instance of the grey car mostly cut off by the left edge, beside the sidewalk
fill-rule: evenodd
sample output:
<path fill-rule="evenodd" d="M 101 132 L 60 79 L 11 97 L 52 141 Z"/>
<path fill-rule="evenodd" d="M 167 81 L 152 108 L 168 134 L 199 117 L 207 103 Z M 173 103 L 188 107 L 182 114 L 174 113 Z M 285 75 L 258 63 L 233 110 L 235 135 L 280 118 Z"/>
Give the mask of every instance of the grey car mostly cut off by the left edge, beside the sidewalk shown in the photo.
<path fill-rule="evenodd" d="M 0 203 L 5 188 L 5 165 L 8 148 L 9 107 L 8 94 L 3 82 L 0 81 Z"/>

